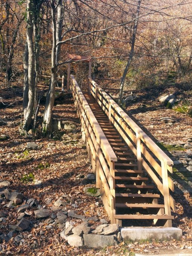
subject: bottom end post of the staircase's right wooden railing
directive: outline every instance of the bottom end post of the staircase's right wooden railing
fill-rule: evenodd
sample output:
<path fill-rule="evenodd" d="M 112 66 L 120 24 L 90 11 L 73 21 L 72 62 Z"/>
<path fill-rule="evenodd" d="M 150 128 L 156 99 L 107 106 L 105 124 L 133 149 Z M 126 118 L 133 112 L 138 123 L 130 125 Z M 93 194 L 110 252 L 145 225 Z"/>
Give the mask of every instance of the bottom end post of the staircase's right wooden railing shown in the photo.
<path fill-rule="evenodd" d="M 164 197 L 164 205 L 165 205 L 165 214 L 170 216 L 171 215 L 171 206 L 170 206 L 167 164 L 166 164 L 166 162 L 161 161 L 161 165 L 162 165 L 163 197 Z M 171 219 L 168 219 L 166 221 L 165 227 L 172 227 Z"/>

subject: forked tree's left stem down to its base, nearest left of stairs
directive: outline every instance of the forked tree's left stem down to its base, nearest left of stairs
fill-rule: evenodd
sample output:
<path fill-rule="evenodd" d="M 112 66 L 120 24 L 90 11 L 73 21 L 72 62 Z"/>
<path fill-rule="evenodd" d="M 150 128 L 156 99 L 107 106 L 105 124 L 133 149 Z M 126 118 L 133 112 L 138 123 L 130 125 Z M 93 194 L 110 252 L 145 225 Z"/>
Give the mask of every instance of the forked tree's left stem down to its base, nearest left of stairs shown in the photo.
<path fill-rule="evenodd" d="M 49 92 L 46 98 L 46 106 L 43 117 L 43 133 L 47 136 L 51 136 L 52 133 L 52 110 L 55 100 L 55 87 L 56 87 L 56 19 L 55 19 L 55 4 L 54 0 L 51 0 L 51 14 L 52 14 L 52 34 L 53 34 L 53 46 L 51 53 L 51 84 Z"/>

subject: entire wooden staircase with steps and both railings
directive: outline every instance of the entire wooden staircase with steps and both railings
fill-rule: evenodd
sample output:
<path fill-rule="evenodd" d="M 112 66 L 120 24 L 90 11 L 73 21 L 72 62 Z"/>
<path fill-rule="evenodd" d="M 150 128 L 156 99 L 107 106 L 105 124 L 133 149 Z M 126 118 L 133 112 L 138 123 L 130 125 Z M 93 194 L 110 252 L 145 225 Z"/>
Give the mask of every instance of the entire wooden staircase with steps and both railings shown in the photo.
<path fill-rule="evenodd" d="M 172 160 L 93 80 L 82 92 L 71 75 L 70 86 L 111 223 L 171 227 Z"/>

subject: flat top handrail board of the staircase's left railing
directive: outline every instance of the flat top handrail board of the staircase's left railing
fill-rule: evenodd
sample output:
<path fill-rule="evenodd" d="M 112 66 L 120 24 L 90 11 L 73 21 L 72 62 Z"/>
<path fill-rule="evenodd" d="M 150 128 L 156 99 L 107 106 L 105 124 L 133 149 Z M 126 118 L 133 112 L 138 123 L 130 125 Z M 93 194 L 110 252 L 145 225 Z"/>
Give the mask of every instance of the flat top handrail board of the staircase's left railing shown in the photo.
<path fill-rule="evenodd" d="M 80 89 L 79 85 L 77 84 L 73 75 L 71 75 L 71 79 L 72 79 L 73 85 L 75 87 L 76 93 L 79 93 L 79 99 L 81 100 L 81 104 L 84 107 L 85 113 L 88 116 L 90 124 L 93 128 L 95 135 L 96 135 L 97 142 L 101 146 L 101 149 L 105 155 L 105 158 L 108 160 L 108 162 L 112 162 L 112 161 L 116 162 L 117 161 L 116 154 L 114 153 L 110 143 L 108 142 L 104 132 L 101 129 L 101 126 L 99 125 L 97 119 L 95 118 L 93 112 L 91 111 L 91 108 L 88 105 L 87 100 L 85 99 L 83 93 L 81 92 L 81 89 Z"/>

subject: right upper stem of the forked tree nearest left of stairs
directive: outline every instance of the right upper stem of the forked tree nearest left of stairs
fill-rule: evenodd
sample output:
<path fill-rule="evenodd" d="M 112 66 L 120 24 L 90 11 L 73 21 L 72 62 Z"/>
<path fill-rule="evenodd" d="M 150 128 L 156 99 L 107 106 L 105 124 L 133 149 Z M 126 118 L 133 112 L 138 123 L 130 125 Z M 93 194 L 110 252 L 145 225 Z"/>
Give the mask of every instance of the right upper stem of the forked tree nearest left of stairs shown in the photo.
<path fill-rule="evenodd" d="M 63 21 L 63 8 L 62 0 L 57 0 L 57 22 L 56 22 L 56 43 L 61 41 L 62 35 L 62 21 Z M 56 65 L 58 64 L 61 56 L 61 44 L 56 47 Z"/>

